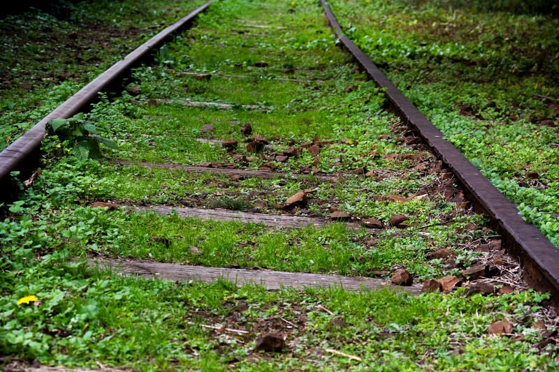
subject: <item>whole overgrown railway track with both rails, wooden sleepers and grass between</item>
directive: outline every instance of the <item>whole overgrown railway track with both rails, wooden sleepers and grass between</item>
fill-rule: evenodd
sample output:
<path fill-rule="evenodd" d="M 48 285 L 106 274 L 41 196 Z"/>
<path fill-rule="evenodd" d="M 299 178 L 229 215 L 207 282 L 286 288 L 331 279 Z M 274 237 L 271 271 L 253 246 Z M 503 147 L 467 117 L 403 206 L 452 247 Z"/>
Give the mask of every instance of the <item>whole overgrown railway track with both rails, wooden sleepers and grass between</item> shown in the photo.
<path fill-rule="evenodd" d="M 344 36 L 326 1 L 321 5 L 203 3 L 0 153 L 0 269 L 14 282 L 26 270 L 64 278 L 27 283 L 11 295 L 23 301 L 2 315 L 6 335 L 12 318 L 34 327 L 33 315 L 17 309 L 55 320 L 41 320 L 45 326 L 31 336 L 2 336 L 6 366 L 19 368 L 20 358 L 33 356 L 101 369 L 340 369 L 367 368 L 380 357 L 378 370 L 467 369 L 453 357 L 484 356 L 453 340 L 456 331 L 441 336 L 450 358 L 442 362 L 428 341 L 419 351 L 393 343 L 409 320 L 381 324 L 379 312 L 446 296 L 487 315 L 489 334 L 525 343 L 535 358 L 530 366 L 557 362 L 559 251 Z M 120 299 L 152 293 L 150 285 L 170 294 L 172 305 L 146 295 L 150 306 L 111 313 Z M 204 294 L 216 285 L 224 292 Z M 134 286 L 143 290 L 129 290 Z M 112 304 L 103 304 L 103 291 Z M 260 303 L 253 297 L 284 291 L 289 295 Z M 356 322 L 349 308 L 361 305 L 351 305 L 358 303 L 351 296 L 365 292 L 397 304 L 367 315 L 374 329 L 335 336 Z M 507 296 L 516 311 L 528 311 L 522 293 L 543 296 L 545 306 L 507 318 Z M 25 302 L 24 294 L 33 299 Z M 495 303 L 480 305 L 487 298 Z M 163 319 L 150 315 L 152 305 L 166 308 Z M 502 308 L 491 318 L 495 306 Z M 63 328 L 56 318 L 69 313 L 75 316 Z M 136 327 L 141 336 L 126 321 L 108 320 L 127 316 L 151 319 Z M 162 336 L 166 321 L 183 323 L 189 335 Z M 540 330 L 521 336 L 514 322 Z M 112 355 L 109 348 L 130 348 L 115 334 L 120 328 L 147 346 Z M 41 332 L 39 345 L 24 341 Z M 309 341 L 314 332 L 324 341 Z M 440 336 L 440 329 L 428 332 Z M 76 346 L 66 342 L 70 336 L 88 338 Z M 363 351 L 365 339 L 384 341 Z M 168 349 L 150 356 L 158 340 Z M 73 359 L 79 348 L 84 359 Z M 537 359 L 530 348 L 548 356 Z M 503 344 L 500 352 L 510 349 Z M 395 362 L 398 353 L 405 357 Z M 129 359 L 135 355 L 139 364 Z"/>

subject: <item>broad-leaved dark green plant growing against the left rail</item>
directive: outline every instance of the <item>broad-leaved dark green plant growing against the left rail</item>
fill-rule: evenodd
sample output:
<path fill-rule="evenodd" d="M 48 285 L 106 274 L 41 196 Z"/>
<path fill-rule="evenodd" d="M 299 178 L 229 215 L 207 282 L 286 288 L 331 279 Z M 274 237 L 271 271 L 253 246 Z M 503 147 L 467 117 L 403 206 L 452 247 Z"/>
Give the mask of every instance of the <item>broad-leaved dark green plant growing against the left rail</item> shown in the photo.
<path fill-rule="evenodd" d="M 80 159 L 100 158 L 99 144 L 110 149 L 118 149 L 116 142 L 103 138 L 97 134 L 97 128 L 92 121 L 85 119 L 80 113 L 70 119 L 51 119 L 48 121 L 49 133 L 57 133 L 61 140 L 73 146 L 72 154 Z"/>

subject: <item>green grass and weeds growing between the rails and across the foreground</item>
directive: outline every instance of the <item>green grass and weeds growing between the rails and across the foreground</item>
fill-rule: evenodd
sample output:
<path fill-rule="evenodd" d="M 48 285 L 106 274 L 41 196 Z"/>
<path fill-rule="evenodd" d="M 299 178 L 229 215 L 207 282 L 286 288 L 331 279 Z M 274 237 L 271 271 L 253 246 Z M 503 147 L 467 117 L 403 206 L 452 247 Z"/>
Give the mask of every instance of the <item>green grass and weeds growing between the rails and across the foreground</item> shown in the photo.
<path fill-rule="evenodd" d="M 217 1 L 154 57 L 122 95 L 102 94 L 74 119 L 118 149 L 76 158 L 68 142 L 49 135 L 40 177 L 3 206 L 3 368 L 34 361 L 139 371 L 559 368 L 549 296 L 521 287 L 501 295 L 267 291 L 125 278 L 89 265 L 86 258 L 128 258 L 381 278 L 406 267 L 417 282 L 461 276 L 493 253 L 506 260 L 451 174 L 382 111 L 382 92 L 337 47 L 316 1 Z M 115 160 L 286 174 L 233 179 Z M 286 208 L 300 191 L 306 204 Z M 95 207 L 100 200 L 119 205 Z M 152 204 L 321 218 L 342 211 L 380 225 L 270 228 L 132 208 Z M 406 219 L 393 223 L 395 215 Z M 442 248 L 449 259 L 430 255 Z M 494 334 L 498 321 L 510 329 Z M 269 332 L 284 336 L 282 352 L 257 350 Z"/>

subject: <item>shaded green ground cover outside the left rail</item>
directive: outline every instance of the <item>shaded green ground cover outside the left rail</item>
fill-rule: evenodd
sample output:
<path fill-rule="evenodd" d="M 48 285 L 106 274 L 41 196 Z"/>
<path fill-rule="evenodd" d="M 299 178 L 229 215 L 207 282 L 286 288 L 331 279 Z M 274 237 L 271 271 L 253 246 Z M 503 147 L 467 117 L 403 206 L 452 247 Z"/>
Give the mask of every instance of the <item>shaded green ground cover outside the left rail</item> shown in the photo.
<path fill-rule="evenodd" d="M 0 150 L 203 1 L 53 1 L 0 19 Z"/>

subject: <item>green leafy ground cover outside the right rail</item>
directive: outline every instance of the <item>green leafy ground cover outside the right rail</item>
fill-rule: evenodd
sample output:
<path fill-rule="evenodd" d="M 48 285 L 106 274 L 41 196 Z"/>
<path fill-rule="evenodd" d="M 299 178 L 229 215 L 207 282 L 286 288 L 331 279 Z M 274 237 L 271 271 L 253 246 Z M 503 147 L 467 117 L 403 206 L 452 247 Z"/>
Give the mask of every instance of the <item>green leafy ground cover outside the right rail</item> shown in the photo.
<path fill-rule="evenodd" d="M 344 32 L 559 246 L 556 5 L 331 3 Z"/>

